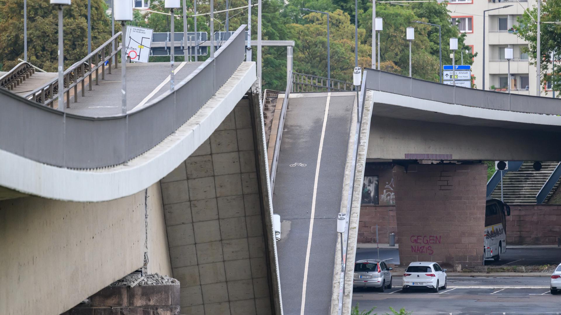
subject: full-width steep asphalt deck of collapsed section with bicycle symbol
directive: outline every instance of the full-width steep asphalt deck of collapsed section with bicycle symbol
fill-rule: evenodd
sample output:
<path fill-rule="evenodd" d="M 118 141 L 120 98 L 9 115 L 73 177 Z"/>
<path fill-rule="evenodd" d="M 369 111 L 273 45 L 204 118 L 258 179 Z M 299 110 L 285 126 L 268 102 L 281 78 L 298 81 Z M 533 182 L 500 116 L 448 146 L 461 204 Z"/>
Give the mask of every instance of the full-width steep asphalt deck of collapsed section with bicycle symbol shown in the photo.
<path fill-rule="evenodd" d="M 302 96 L 302 97 L 298 97 Z M 282 221 L 277 243 L 285 314 L 299 314 L 310 212 L 327 93 L 291 94 L 279 155 L 273 207 Z M 341 209 L 343 173 L 354 96 L 332 93 L 318 177 L 312 229 L 306 314 L 327 314 Z M 304 163 L 306 166 L 289 166 Z"/>

